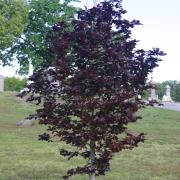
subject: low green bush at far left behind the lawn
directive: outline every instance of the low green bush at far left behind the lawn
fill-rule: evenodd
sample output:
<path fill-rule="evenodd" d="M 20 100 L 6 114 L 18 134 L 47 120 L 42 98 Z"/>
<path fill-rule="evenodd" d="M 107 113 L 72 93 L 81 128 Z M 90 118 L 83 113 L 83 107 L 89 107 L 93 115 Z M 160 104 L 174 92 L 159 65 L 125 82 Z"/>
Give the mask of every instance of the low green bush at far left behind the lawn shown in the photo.
<path fill-rule="evenodd" d="M 16 77 L 6 77 L 4 80 L 5 91 L 20 91 L 25 87 L 27 79 L 19 79 Z"/>

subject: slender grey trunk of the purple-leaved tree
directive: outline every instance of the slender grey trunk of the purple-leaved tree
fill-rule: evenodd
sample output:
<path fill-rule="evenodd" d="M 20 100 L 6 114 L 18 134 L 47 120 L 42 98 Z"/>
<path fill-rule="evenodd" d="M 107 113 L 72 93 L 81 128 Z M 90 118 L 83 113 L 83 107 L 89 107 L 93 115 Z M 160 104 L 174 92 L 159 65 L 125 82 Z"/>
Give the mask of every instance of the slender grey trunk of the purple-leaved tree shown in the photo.
<path fill-rule="evenodd" d="M 91 170 L 95 168 L 95 142 L 91 141 L 90 142 L 90 163 L 91 163 Z M 95 180 L 95 174 L 92 173 L 89 176 L 89 180 Z"/>

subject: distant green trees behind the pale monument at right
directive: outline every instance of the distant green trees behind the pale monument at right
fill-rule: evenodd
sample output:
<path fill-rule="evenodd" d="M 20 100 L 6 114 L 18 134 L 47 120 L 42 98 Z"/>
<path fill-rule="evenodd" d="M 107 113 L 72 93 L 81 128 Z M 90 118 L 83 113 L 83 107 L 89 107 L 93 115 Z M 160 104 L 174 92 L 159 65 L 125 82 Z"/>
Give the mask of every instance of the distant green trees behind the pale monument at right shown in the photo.
<path fill-rule="evenodd" d="M 171 87 L 171 97 L 174 101 L 180 102 L 180 81 L 164 81 L 156 84 L 156 93 L 162 99 L 166 91 L 166 85 Z"/>

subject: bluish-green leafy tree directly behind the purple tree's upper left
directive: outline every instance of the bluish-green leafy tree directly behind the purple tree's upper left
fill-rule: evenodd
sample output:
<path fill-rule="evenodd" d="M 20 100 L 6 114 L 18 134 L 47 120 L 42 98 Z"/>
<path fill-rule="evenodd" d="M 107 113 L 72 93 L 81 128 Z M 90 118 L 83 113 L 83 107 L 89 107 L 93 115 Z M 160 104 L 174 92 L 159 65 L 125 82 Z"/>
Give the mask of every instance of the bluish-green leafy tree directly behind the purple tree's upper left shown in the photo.
<path fill-rule="evenodd" d="M 19 73 L 27 73 L 29 62 L 37 69 L 47 58 L 46 34 L 52 25 L 73 16 L 76 8 L 69 5 L 74 0 L 31 0 L 29 2 L 28 23 L 22 36 L 4 54 L 4 62 L 11 62 L 16 55 L 20 65 Z"/>

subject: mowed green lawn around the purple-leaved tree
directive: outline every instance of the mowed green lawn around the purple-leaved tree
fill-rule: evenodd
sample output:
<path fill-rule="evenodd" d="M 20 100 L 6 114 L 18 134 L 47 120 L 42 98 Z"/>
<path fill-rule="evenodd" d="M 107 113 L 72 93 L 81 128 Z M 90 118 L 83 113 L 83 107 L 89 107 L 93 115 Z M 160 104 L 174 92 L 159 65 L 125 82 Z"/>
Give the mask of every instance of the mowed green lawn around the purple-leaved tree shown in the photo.
<path fill-rule="evenodd" d="M 0 93 L 0 180 L 62 179 L 68 168 L 83 163 L 80 158 L 68 161 L 60 157 L 58 150 L 65 146 L 62 143 L 38 141 L 45 127 L 16 127 L 16 122 L 34 109 L 18 100 L 15 93 Z M 143 119 L 129 127 L 145 132 L 145 143 L 116 154 L 105 179 L 180 180 L 180 112 L 147 108 L 141 113 Z"/>

